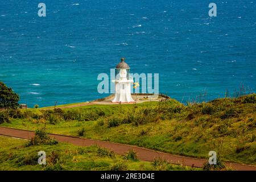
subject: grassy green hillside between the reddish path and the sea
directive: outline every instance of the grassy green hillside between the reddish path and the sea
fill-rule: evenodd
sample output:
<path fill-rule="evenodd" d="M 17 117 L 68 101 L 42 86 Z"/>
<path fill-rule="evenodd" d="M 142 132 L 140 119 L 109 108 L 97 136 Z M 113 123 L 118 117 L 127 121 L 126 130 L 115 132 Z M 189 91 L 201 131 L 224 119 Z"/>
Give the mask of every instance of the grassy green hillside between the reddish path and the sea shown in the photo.
<path fill-rule="evenodd" d="M 135 105 L 5 111 L 0 126 L 133 144 L 196 158 L 256 164 L 256 94 L 183 105 L 176 100 Z"/>

